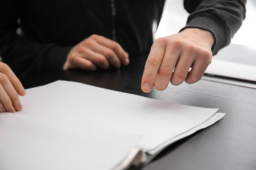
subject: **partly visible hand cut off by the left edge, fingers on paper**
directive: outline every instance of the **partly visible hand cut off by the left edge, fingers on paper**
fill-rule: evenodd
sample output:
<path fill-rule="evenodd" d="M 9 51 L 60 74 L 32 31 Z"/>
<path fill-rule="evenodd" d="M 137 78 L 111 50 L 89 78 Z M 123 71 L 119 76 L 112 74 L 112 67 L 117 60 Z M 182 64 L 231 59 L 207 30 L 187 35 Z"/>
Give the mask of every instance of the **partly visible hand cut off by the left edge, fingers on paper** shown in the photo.
<path fill-rule="evenodd" d="M 25 94 L 26 91 L 14 72 L 7 64 L 0 62 L 0 113 L 21 111 L 18 95 Z"/>

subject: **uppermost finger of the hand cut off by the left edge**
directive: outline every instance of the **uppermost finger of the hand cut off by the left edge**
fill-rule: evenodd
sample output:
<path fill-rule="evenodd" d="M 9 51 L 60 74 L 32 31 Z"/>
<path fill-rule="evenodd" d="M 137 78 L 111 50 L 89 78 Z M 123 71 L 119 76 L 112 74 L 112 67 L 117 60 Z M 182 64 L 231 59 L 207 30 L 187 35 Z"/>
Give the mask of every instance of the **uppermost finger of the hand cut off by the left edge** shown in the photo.
<path fill-rule="evenodd" d="M 19 95 L 24 96 L 26 94 L 26 91 L 23 88 L 21 81 L 19 81 L 19 79 L 16 77 L 11 68 L 4 62 L 0 63 L 0 72 L 6 74 L 6 76 L 11 81 L 11 84 L 14 86 L 14 89 L 17 91 Z"/>

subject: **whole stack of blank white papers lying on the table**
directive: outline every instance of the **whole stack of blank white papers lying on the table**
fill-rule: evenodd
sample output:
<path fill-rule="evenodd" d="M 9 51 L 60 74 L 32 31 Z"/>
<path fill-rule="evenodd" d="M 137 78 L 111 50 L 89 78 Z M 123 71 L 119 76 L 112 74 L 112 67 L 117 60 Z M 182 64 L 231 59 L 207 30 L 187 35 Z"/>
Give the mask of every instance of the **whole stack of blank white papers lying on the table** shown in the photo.
<path fill-rule="evenodd" d="M 55 81 L 0 114 L 0 169 L 129 169 L 225 113 Z"/>

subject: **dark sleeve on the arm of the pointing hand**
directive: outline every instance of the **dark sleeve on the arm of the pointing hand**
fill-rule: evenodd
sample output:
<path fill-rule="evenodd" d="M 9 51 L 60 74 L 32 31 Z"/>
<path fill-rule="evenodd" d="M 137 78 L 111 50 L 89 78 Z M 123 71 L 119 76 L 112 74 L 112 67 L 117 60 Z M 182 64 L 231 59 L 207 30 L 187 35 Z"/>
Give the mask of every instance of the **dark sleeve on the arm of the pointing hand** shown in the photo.
<path fill-rule="evenodd" d="M 183 4 L 190 13 L 183 29 L 210 31 L 214 38 L 213 55 L 230 43 L 245 19 L 246 0 L 184 0 Z"/>

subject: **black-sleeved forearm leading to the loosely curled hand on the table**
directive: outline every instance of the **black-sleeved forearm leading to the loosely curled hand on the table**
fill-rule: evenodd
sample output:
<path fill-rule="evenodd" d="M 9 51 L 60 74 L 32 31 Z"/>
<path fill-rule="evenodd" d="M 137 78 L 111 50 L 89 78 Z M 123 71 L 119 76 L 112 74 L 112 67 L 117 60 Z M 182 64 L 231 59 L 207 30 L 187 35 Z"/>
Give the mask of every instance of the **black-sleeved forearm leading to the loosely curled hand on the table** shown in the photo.
<path fill-rule="evenodd" d="M 18 77 L 61 70 L 70 51 L 70 47 L 45 45 L 18 35 L 4 38 L 4 33 L 0 33 L 0 39 L 3 62 L 9 64 Z"/>

